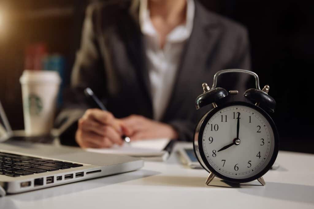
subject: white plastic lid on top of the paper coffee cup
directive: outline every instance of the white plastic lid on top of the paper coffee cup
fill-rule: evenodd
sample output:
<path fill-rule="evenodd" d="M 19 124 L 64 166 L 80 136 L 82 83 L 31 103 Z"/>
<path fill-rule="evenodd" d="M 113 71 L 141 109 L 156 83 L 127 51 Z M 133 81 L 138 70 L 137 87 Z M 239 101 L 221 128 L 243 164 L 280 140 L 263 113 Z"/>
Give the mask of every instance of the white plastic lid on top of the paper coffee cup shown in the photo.
<path fill-rule="evenodd" d="M 24 70 L 21 78 L 21 84 L 24 83 L 61 83 L 59 73 L 50 70 Z"/>

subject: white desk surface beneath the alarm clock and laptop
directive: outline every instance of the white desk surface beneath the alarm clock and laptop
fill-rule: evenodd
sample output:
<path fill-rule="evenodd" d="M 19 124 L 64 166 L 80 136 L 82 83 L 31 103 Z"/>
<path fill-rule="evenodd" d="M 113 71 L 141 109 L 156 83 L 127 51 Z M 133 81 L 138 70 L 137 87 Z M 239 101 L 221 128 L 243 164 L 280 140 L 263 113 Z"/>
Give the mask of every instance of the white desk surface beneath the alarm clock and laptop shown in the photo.
<path fill-rule="evenodd" d="M 180 146 L 176 145 L 175 149 Z M 314 208 L 314 155 L 279 152 L 278 170 L 264 175 L 265 186 L 230 188 L 205 170 L 181 165 L 176 153 L 166 163 L 143 169 L 0 198 L 1 209 L 94 208 Z"/>

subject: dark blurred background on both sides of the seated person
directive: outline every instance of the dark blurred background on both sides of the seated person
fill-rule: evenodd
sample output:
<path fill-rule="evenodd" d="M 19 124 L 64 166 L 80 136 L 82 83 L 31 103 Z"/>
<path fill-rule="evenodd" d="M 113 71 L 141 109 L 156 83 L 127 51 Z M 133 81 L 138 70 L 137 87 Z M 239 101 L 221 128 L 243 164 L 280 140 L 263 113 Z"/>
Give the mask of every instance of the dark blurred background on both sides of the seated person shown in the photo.
<path fill-rule="evenodd" d="M 208 9 L 236 20 L 249 31 L 252 70 L 270 85 L 277 101 L 273 117 L 280 149 L 314 153 L 312 82 L 314 29 L 312 3 L 306 1 L 199 0 Z M 13 129 L 23 129 L 19 77 L 24 50 L 45 42 L 66 58 L 69 83 L 79 48 L 88 0 L 0 0 L 0 100 Z M 208 78 L 212 79 L 212 78 Z"/>

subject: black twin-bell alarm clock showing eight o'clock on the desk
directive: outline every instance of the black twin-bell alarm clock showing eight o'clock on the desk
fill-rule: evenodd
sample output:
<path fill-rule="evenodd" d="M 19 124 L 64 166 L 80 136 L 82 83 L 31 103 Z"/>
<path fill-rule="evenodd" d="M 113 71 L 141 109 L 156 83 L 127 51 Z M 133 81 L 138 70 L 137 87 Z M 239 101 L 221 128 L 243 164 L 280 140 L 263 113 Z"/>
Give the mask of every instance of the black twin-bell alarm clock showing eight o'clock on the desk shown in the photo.
<path fill-rule="evenodd" d="M 219 102 L 218 106 L 219 100 L 238 94 L 237 90 L 216 87 L 219 75 L 231 72 L 254 76 L 256 88 L 243 94 L 250 102 Z M 204 93 L 196 99 L 196 109 L 209 104 L 214 109 L 198 122 L 193 147 L 199 163 L 210 173 L 207 185 L 215 176 L 232 183 L 257 179 L 265 185 L 262 176 L 272 167 L 279 149 L 278 131 L 267 113 L 274 112 L 276 102 L 268 90 L 268 85 L 260 89 L 256 73 L 241 69 L 217 72 L 211 89 L 203 83 Z"/>

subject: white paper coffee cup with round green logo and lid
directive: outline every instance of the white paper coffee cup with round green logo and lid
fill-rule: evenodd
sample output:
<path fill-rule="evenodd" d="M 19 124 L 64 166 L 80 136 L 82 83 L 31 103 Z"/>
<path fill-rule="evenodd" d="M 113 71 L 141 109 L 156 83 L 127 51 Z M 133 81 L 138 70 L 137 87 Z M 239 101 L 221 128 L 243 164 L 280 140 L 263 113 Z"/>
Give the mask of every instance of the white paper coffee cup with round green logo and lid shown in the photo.
<path fill-rule="evenodd" d="M 61 78 L 55 71 L 24 70 L 20 83 L 26 136 L 49 134 Z"/>

